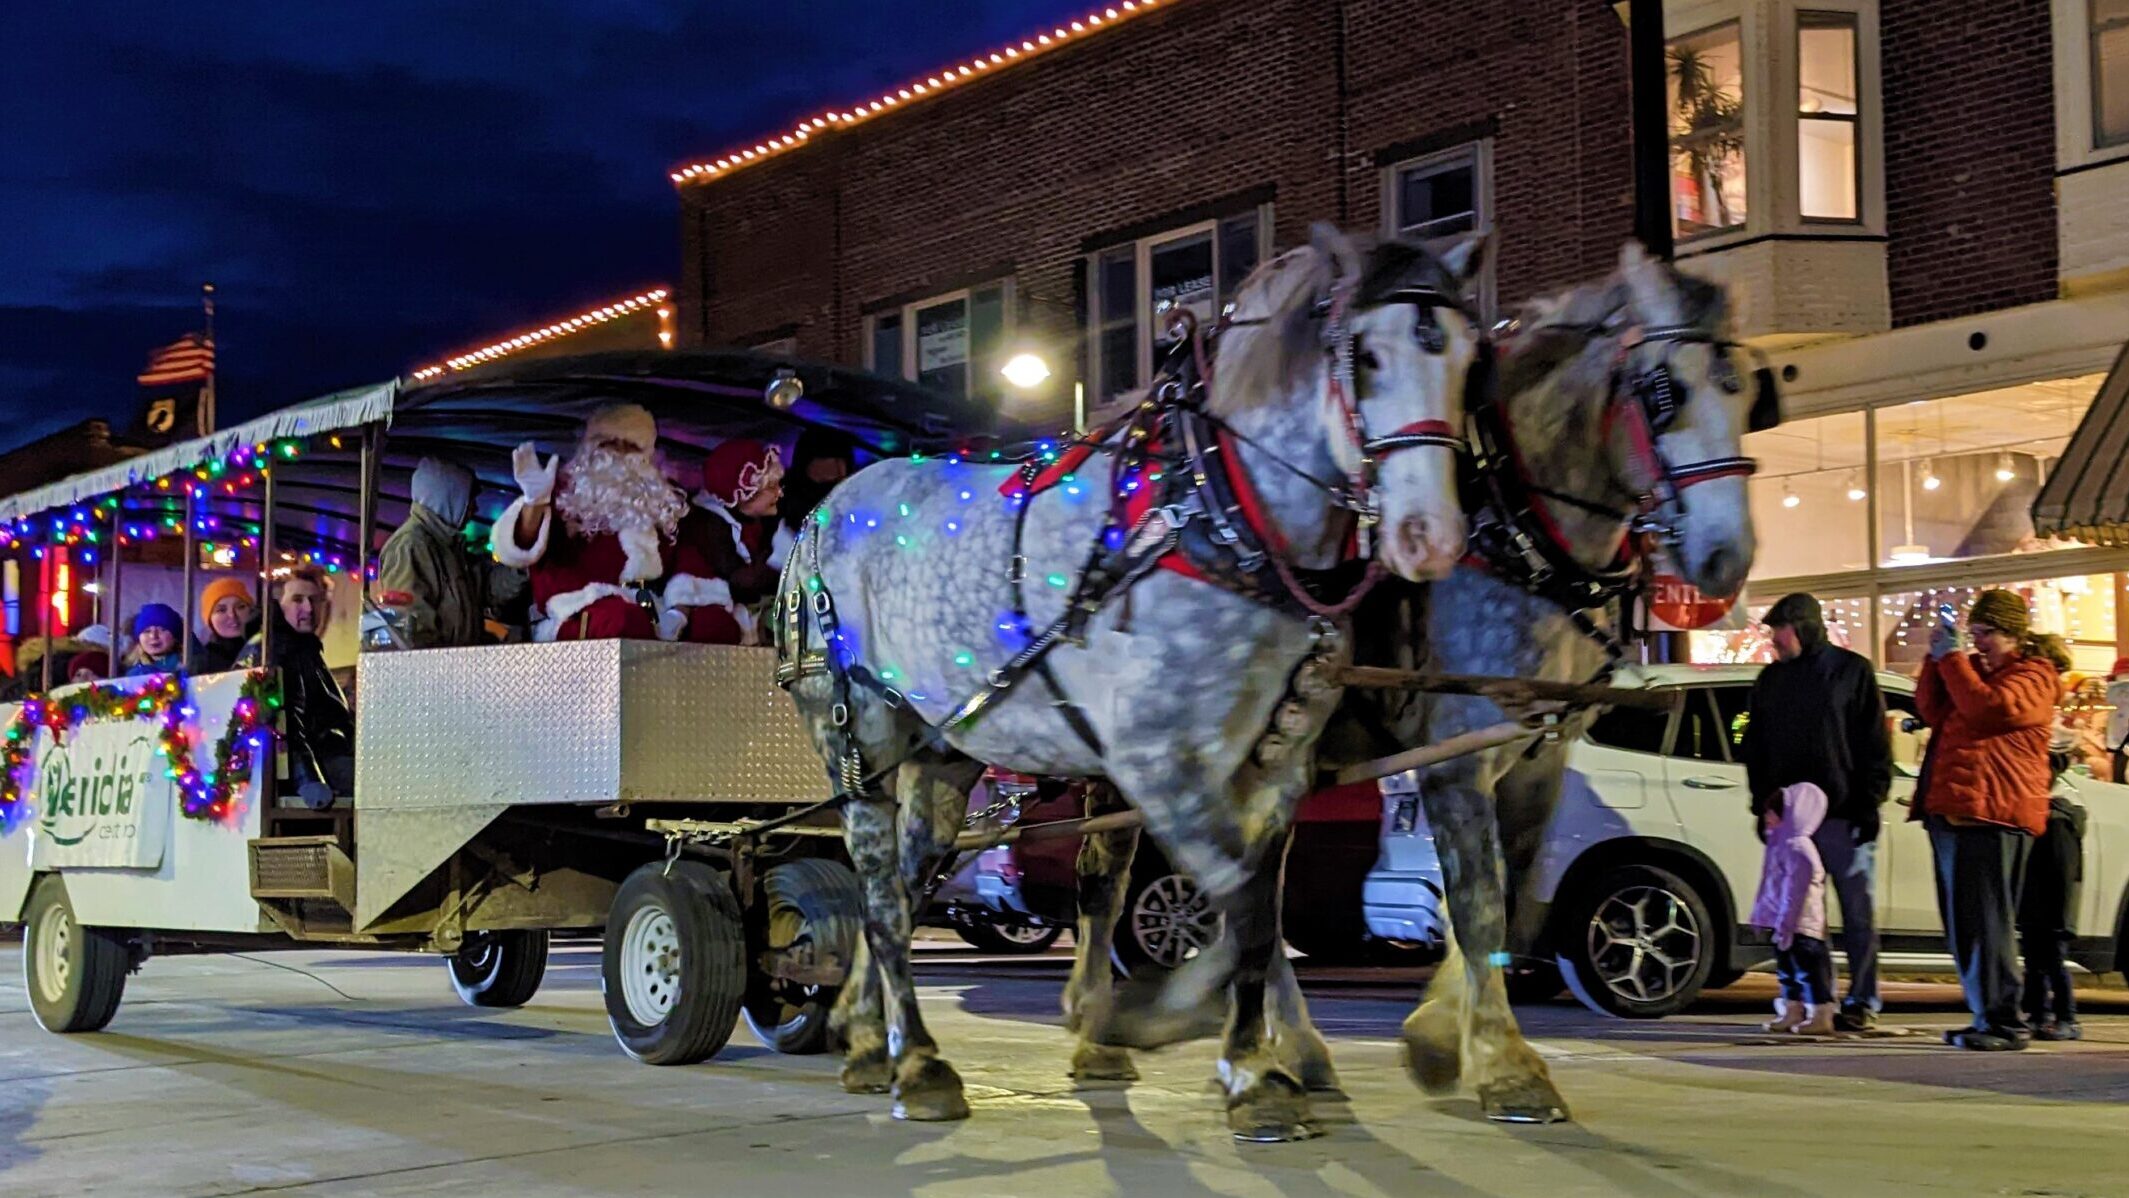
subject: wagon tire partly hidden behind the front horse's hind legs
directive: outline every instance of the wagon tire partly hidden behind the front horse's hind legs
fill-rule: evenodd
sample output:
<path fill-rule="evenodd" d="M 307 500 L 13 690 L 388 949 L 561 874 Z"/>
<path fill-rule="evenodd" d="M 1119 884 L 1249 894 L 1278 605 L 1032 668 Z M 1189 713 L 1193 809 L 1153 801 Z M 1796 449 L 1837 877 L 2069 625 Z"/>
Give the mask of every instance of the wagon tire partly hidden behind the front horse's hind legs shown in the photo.
<path fill-rule="evenodd" d="M 864 887 L 843 862 L 801 858 L 762 875 L 764 936 L 760 949 L 781 949 L 798 936 L 813 934 L 845 962 L 858 960 L 858 938 L 864 936 Z M 788 1055 L 811 1055 L 828 1049 L 828 1013 L 841 987 L 822 985 L 811 1000 L 790 1006 L 773 994 L 769 975 L 760 972 L 756 951 L 747 953 L 747 996 L 741 1006 L 747 1028 L 764 1045 Z M 781 1019 L 781 1021 L 779 1021 Z"/>

